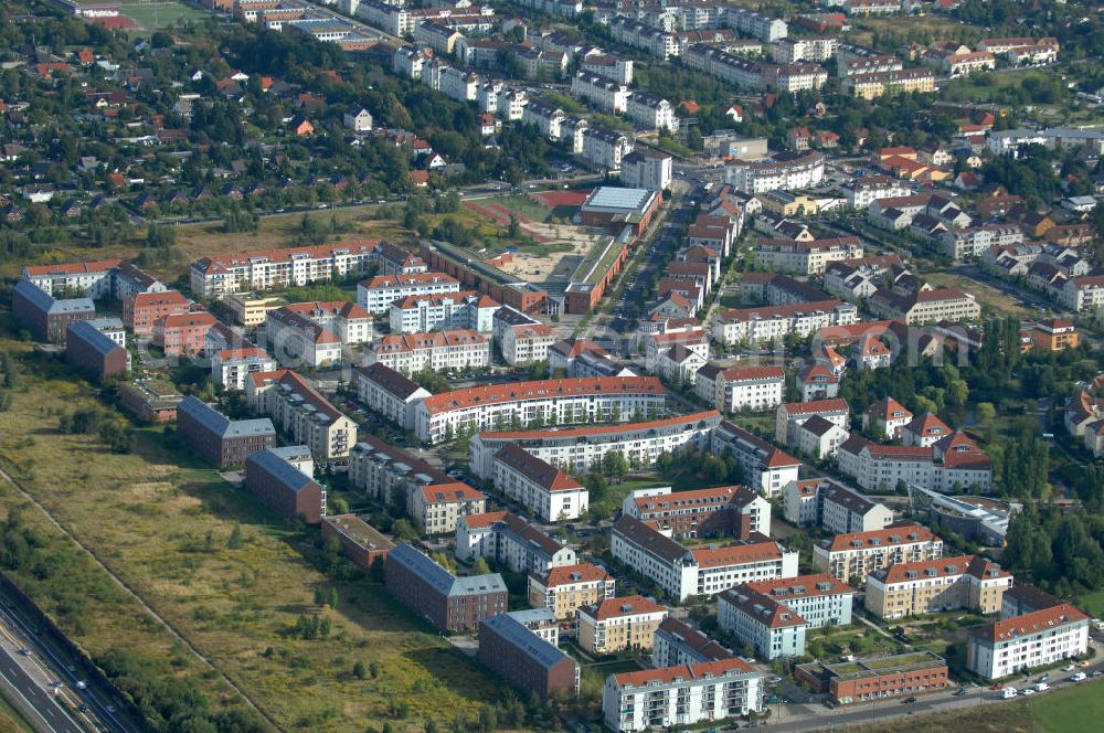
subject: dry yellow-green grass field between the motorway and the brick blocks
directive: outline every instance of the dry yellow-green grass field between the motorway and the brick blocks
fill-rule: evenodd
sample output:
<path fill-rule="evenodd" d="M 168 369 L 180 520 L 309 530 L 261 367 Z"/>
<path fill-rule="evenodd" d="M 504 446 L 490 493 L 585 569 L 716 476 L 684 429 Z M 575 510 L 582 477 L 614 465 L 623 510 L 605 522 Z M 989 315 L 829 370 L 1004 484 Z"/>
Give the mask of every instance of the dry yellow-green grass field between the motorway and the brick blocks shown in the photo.
<path fill-rule="evenodd" d="M 382 587 L 332 582 L 315 570 L 315 531 L 286 529 L 215 471 L 169 447 L 160 431 L 139 431 L 130 455 L 110 454 L 92 436 L 60 434 L 52 415 L 93 404 L 93 391 L 52 358 L 38 359 L 24 364 L 25 389 L 0 413 L 0 464 L 280 727 L 359 732 L 388 720 L 396 730 L 421 729 L 426 718 L 475 718 L 482 701 L 495 699 L 486 676 Z M 6 489 L 0 511 L 14 503 Z M 238 522 L 245 541 L 230 549 Z M 81 577 L 97 575 L 88 563 Z M 314 605 L 318 586 L 337 587 L 337 608 Z M 212 704 L 234 701 L 219 676 L 173 649 L 137 604 L 117 592 L 94 597 L 79 619 L 47 609 L 93 656 L 118 647 L 173 659 Z M 300 614 L 328 617 L 332 634 L 310 641 L 289 635 Z M 375 662 L 379 679 L 353 677 L 357 661 Z M 392 702 L 408 703 L 408 718 L 389 715 Z"/>

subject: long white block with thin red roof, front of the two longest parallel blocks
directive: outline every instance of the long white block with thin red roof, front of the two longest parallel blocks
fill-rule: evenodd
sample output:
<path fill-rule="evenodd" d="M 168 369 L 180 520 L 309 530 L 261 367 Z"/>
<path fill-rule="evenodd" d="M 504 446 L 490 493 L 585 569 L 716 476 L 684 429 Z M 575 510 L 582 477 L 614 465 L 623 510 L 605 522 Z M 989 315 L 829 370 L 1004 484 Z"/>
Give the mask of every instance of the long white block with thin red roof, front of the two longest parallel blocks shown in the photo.
<path fill-rule="evenodd" d="M 495 472 L 495 456 L 507 445 L 517 445 L 526 453 L 575 475 L 585 474 L 602 461 L 607 453 L 619 453 L 626 460 L 651 466 L 662 453 L 671 455 L 688 447 L 707 449 L 710 434 L 720 422 L 716 411 L 641 419 L 617 415 L 619 425 L 583 425 L 554 429 L 479 433 L 471 438 L 471 471 L 484 479 Z M 507 424 L 508 426 L 508 424 Z"/>

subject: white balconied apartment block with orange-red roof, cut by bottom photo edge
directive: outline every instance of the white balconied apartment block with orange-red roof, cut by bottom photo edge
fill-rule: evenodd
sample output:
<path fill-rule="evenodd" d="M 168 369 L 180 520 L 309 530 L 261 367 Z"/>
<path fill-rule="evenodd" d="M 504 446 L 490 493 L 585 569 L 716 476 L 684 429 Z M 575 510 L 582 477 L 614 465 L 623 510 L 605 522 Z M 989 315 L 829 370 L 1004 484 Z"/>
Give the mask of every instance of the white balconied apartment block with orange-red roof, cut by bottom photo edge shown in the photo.
<path fill-rule="evenodd" d="M 602 714 L 615 733 L 739 718 L 763 710 L 765 677 L 742 659 L 611 674 Z"/>

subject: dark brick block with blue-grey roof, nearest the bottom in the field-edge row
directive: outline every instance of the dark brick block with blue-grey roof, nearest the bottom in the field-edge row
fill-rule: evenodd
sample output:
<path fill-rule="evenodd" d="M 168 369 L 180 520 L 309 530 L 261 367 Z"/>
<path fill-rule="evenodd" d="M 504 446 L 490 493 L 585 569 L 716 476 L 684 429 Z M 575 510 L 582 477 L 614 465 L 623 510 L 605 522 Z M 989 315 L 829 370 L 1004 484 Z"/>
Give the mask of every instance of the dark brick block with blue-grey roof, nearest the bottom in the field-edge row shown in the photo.
<path fill-rule="evenodd" d="M 578 663 L 510 614 L 480 622 L 478 656 L 511 687 L 542 702 L 578 694 Z"/>

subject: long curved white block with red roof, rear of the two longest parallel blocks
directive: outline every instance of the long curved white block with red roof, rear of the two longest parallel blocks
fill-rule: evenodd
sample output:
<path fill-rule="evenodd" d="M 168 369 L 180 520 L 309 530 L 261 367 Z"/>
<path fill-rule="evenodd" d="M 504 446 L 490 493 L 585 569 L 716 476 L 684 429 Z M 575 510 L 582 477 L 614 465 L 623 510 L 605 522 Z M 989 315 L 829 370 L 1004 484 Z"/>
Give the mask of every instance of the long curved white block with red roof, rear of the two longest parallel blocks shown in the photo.
<path fill-rule="evenodd" d="M 666 392 L 655 376 L 507 382 L 432 395 L 414 407 L 414 433 L 420 440 L 438 443 L 446 432 L 479 431 L 496 425 L 577 425 L 620 421 L 634 414 L 662 411 Z"/>

